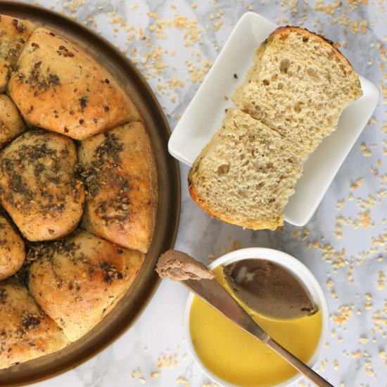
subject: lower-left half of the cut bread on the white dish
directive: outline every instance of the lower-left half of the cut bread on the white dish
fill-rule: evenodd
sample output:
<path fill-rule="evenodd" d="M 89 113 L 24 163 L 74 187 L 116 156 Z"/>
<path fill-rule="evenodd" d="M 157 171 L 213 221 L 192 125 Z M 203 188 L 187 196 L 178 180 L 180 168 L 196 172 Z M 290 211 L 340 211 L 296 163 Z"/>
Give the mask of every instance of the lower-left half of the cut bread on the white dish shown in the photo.
<path fill-rule="evenodd" d="M 189 193 L 224 222 L 276 229 L 284 224 L 284 206 L 301 174 L 292 141 L 241 110 L 228 109 L 189 172 Z"/>

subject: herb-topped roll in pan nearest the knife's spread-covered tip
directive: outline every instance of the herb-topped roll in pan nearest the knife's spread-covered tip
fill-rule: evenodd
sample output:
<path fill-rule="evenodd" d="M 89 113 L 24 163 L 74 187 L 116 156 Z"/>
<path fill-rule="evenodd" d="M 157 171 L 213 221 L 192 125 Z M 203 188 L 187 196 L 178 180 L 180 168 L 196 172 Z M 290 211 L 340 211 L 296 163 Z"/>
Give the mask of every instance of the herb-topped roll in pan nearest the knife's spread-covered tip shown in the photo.
<path fill-rule="evenodd" d="M 29 288 L 70 341 L 87 334 L 132 285 L 145 255 L 89 233 L 35 246 Z"/>

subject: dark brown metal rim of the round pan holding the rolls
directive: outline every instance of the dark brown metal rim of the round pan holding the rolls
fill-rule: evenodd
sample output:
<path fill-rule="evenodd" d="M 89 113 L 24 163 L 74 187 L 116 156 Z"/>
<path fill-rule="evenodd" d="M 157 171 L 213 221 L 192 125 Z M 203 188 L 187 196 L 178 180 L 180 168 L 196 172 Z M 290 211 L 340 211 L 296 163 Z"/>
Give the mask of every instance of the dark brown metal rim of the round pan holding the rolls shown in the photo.
<path fill-rule="evenodd" d="M 129 59 L 99 34 L 45 8 L 0 1 L 0 13 L 32 20 L 91 53 L 120 82 L 144 118 L 158 170 L 158 215 L 153 242 L 132 288 L 102 322 L 63 350 L 0 370 L 0 386 L 20 386 L 47 379 L 76 367 L 106 348 L 125 332 L 144 310 L 159 284 L 154 270 L 160 253 L 175 243 L 180 214 L 180 177 L 177 160 L 167 152 L 170 129 L 156 97 Z"/>

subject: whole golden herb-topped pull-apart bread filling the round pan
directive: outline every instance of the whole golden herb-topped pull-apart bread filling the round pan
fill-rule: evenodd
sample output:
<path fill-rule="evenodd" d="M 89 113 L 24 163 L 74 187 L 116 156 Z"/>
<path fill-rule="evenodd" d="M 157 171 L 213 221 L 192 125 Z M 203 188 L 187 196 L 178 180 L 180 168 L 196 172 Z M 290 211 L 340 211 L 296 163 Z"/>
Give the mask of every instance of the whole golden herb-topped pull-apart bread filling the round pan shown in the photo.
<path fill-rule="evenodd" d="M 0 15 L 5 89 L 0 369 L 61 350 L 113 310 L 146 258 L 158 202 L 141 115 L 89 53 Z"/>

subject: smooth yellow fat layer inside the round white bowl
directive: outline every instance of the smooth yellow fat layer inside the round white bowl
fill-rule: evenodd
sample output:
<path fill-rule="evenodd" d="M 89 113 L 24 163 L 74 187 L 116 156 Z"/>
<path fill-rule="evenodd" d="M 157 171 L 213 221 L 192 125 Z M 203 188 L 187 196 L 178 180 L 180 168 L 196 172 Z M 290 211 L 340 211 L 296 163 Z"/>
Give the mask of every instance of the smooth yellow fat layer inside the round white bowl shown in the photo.
<path fill-rule="evenodd" d="M 214 270 L 217 281 L 231 292 L 222 267 Z M 240 303 L 240 300 L 239 300 Z M 312 357 L 322 331 L 322 315 L 274 319 L 244 309 L 264 329 L 303 362 Z M 191 339 L 205 367 L 237 386 L 273 386 L 291 378 L 295 369 L 258 339 L 253 338 L 219 312 L 195 297 L 189 316 Z"/>

